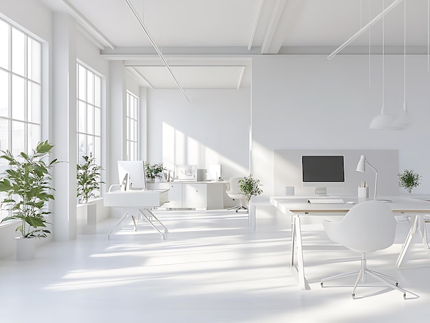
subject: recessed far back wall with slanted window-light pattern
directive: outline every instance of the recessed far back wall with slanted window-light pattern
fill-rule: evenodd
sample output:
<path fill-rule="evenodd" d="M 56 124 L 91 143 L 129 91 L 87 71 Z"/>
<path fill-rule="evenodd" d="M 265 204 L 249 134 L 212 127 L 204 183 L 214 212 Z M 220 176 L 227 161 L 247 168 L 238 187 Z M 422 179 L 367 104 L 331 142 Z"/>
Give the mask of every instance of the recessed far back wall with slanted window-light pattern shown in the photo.
<path fill-rule="evenodd" d="M 205 169 L 221 164 L 221 176 L 249 169 L 250 89 L 148 90 L 148 160 Z"/>

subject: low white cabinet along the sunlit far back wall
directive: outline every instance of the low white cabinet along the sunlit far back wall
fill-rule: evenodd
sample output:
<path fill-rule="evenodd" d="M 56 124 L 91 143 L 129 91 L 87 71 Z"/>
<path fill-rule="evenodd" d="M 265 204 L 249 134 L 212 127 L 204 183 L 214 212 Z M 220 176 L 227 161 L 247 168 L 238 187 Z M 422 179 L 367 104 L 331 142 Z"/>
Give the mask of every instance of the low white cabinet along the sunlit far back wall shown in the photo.
<path fill-rule="evenodd" d="M 165 208 L 195 208 L 217 210 L 224 208 L 224 182 L 158 182 L 148 189 L 169 189 Z"/>

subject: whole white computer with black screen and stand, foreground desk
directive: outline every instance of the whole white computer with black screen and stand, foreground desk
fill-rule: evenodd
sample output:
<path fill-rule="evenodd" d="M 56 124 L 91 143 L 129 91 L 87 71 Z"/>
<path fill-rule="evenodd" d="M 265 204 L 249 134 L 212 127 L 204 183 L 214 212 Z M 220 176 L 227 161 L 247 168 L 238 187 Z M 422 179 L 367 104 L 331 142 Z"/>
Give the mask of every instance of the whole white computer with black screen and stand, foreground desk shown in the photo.
<path fill-rule="evenodd" d="M 327 187 L 345 186 L 343 156 L 302 156 L 304 187 L 315 187 L 315 194 L 327 195 Z"/>

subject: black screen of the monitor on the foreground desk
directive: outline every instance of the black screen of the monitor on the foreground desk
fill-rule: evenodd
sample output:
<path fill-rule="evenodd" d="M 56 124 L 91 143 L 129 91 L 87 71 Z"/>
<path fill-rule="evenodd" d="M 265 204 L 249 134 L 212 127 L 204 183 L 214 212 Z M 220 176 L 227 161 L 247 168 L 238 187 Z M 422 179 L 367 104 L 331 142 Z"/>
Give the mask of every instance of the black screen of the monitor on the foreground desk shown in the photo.
<path fill-rule="evenodd" d="M 303 182 L 345 182 L 343 156 L 302 156 Z"/>

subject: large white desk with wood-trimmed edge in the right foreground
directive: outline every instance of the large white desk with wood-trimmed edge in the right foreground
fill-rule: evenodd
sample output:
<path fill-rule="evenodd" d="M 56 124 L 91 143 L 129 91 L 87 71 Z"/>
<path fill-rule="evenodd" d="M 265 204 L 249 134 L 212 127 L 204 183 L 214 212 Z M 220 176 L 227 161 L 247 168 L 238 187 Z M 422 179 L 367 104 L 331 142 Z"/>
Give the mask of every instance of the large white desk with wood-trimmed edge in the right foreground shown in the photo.
<path fill-rule="evenodd" d="M 300 220 L 307 216 L 324 216 L 324 215 L 345 215 L 354 204 L 310 204 L 307 202 L 310 197 L 272 197 L 271 204 L 276 206 L 285 215 L 291 215 L 291 261 L 289 267 L 293 276 L 296 278 L 300 289 L 310 289 L 304 274 L 304 256 L 302 244 L 302 226 Z M 315 198 L 315 196 L 314 196 Z M 372 199 L 357 199 L 341 197 L 346 201 L 355 201 L 357 203 L 372 200 Z M 387 200 L 392 200 L 392 203 L 387 205 L 392 209 L 394 215 L 407 214 L 411 217 L 411 228 L 407 235 L 407 239 L 403 244 L 403 248 L 398 255 L 396 267 L 400 267 L 403 257 L 405 256 L 412 237 L 418 228 L 418 219 L 420 216 L 430 214 L 430 202 L 418 200 L 414 198 L 405 198 L 400 196 L 383 197 Z M 297 252 L 297 264 L 295 264 L 295 252 Z"/>

